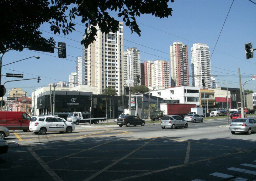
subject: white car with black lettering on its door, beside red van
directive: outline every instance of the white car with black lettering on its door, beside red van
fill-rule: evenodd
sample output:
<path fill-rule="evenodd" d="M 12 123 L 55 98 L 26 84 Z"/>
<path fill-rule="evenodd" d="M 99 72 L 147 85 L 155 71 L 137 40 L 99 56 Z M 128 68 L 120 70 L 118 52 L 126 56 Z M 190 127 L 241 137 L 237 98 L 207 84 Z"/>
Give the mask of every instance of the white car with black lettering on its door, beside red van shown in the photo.
<path fill-rule="evenodd" d="M 29 130 L 41 135 L 46 134 L 47 131 L 71 133 L 75 130 L 75 125 L 56 116 L 33 116 L 30 120 Z"/>

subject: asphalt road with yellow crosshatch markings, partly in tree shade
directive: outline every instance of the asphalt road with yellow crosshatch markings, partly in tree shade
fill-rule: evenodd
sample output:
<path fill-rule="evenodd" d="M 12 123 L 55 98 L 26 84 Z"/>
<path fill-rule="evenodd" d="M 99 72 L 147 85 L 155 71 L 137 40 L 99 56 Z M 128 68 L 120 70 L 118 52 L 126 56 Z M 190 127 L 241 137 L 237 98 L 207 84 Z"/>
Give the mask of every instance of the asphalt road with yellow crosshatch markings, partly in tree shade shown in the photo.
<path fill-rule="evenodd" d="M 20 146 L 0 155 L 3 180 L 256 180 L 256 133 L 231 135 L 227 120 L 16 131 L 6 140 Z"/>

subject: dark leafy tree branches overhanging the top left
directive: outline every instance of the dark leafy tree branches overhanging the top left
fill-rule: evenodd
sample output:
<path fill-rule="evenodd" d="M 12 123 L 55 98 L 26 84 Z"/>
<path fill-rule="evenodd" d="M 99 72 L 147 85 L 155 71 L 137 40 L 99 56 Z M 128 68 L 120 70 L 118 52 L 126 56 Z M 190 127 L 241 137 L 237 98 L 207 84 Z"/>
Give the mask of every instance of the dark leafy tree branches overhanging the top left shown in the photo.
<path fill-rule="evenodd" d="M 140 36 L 135 17 L 152 14 L 167 18 L 172 15 L 167 2 L 169 0 L 1 0 L 0 53 L 7 49 L 22 51 L 25 46 L 54 45 L 53 38 L 42 36 L 42 24 L 49 23 L 54 34 L 66 35 L 75 30 L 73 20 L 77 17 L 87 27 L 81 44 L 88 47 L 95 40 L 97 24 L 103 33 L 119 30 L 119 21 L 109 11 L 117 11 L 131 32 Z"/>

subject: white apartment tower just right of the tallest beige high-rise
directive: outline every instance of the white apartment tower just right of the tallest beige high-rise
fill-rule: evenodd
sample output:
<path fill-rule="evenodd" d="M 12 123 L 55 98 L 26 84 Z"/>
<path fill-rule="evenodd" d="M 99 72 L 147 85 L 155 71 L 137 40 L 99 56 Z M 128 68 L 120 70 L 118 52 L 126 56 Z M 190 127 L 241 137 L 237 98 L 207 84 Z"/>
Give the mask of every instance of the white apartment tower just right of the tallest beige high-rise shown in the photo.
<path fill-rule="evenodd" d="M 140 51 L 135 48 L 129 48 L 123 53 L 124 61 L 127 62 L 127 69 L 124 69 L 124 74 L 128 76 L 128 79 L 133 79 L 134 83 L 131 86 L 141 85 L 137 82 L 137 75 L 140 75 Z M 130 70 L 130 72 L 128 72 Z M 126 73 L 127 72 L 127 73 Z"/>

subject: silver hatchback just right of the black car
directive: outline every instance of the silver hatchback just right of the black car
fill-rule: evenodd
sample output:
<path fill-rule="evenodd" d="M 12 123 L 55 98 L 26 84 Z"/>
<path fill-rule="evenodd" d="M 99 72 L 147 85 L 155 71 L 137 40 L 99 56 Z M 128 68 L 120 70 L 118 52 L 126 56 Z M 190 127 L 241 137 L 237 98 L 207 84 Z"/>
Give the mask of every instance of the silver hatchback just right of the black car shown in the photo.
<path fill-rule="evenodd" d="M 161 119 L 161 127 L 162 129 L 165 128 L 172 128 L 175 129 L 176 127 L 188 127 L 188 123 L 182 117 L 178 115 L 166 115 Z"/>

